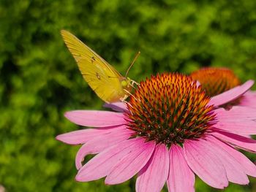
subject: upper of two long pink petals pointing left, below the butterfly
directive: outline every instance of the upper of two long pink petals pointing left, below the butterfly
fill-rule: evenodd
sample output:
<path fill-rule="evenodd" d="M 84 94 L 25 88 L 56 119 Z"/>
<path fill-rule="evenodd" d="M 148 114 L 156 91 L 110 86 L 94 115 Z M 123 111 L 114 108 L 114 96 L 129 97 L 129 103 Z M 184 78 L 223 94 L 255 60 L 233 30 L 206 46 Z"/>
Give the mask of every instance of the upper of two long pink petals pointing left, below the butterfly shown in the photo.
<path fill-rule="evenodd" d="M 77 110 L 66 112 L 65 117 L 79 126 L 107 127 L 126 123 L 121 112 Z"/>

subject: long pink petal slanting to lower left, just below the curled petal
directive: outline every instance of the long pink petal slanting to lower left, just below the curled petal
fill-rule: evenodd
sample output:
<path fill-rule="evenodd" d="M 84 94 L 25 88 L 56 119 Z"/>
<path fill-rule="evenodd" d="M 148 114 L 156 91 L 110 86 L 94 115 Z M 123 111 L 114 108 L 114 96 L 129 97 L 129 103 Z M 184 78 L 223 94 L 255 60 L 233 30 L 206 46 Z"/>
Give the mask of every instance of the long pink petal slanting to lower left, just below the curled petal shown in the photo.
<path fill-rule="evenodd" d="M 113 169 L 113 166 L 127 158 L 130 153 L 138 150 L 144 142 L 145 139 L 135 138 L 108 147 L 79 169 L 75 179 L 86 182 L 105 177 Z"/>

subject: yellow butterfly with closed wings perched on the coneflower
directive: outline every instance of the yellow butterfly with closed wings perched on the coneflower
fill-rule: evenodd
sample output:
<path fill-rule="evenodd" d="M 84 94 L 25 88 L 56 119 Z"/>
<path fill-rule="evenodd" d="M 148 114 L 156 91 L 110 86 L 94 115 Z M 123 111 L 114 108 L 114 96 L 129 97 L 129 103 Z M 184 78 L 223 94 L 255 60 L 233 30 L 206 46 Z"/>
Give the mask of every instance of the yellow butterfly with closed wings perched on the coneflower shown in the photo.
<path fill-rule="evenodd" d="M 107 103 L 127 99 L 127 93 L 132 90 L 132 82 L 134 81 L 130 80 L 127 75 L 123 77 L 113 66 L 69 31 L 61 30 L 61 35 L 78 63 L 78 68 L 84 80 L 89 83 L 100 99 Z"/>

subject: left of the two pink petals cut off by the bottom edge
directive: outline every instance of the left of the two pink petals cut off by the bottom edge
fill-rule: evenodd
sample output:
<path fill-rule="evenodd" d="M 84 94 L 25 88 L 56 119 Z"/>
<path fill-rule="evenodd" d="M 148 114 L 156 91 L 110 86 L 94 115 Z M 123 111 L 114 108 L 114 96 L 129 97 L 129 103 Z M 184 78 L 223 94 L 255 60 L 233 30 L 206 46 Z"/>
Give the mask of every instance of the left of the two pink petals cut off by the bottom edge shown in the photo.
<path fill-rule="evenodd" d="M 165 145 L 157 145 L 150 160 L 140 170 L 136 180 L 137 192 L 161 191 L 168 177 L 169 154 Z"/>

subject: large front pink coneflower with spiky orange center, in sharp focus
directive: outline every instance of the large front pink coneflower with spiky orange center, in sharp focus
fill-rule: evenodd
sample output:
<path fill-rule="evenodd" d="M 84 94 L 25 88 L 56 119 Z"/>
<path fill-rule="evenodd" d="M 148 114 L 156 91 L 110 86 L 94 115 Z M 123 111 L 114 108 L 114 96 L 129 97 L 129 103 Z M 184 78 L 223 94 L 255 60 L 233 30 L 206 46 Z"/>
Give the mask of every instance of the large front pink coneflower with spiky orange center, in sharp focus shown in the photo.
<path fill-rule="evenodd" d="M 136 191 L 195 191 L 195 174 L 214 188 L 228 182 L 246 185 L 256 166 L 236 148 L 256 152 L 256 110 L 219 108 L 244 94 L 249 80 L 209 97 L 182 74 L 152 76 L 136 88 L 127 104 L 108 104 L 118 112 L 78 110 L 65 114 L 73 123 L 89 126 L 56 139 L 80 145 L 76 157 L 80 182 L 105 178 L 123 183 L 135 174 Z M 97 154 L 86 164 L 88 154 Z"/>

